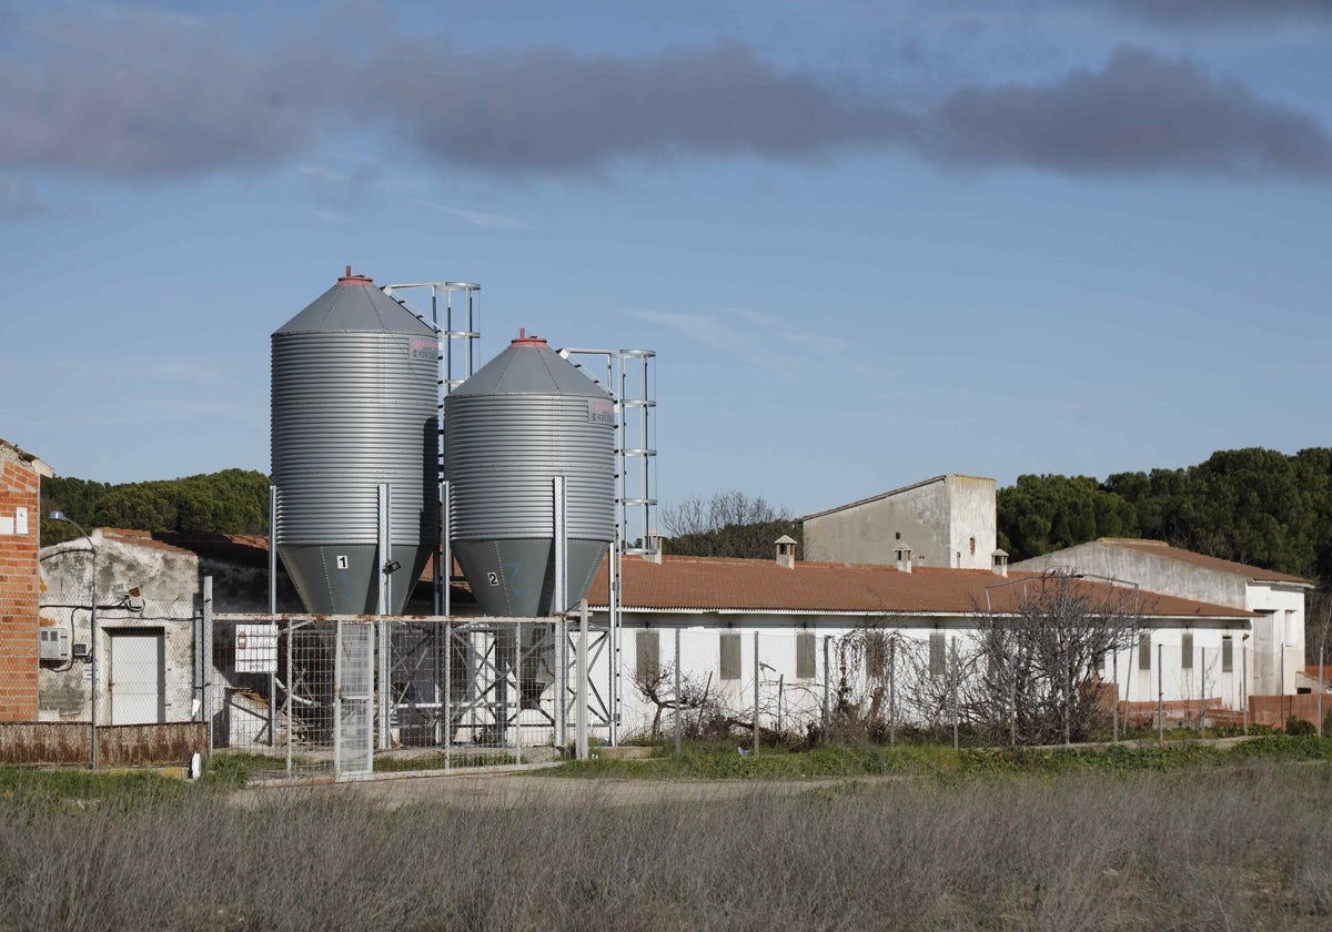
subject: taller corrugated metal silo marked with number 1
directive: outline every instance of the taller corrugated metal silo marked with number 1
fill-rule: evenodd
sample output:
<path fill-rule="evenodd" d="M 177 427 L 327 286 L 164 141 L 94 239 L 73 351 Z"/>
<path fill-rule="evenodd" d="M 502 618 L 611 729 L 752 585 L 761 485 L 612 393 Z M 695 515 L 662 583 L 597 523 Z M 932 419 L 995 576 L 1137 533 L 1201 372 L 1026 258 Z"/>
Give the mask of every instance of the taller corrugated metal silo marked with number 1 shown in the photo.
<path fill-rule="evenodd" d="M 437 379 L 434 332 L 350 266 L 273 333 L 273 533 L 309 611 L 374 612 L 396 562 L 401 614 L 437 538 Z"/>

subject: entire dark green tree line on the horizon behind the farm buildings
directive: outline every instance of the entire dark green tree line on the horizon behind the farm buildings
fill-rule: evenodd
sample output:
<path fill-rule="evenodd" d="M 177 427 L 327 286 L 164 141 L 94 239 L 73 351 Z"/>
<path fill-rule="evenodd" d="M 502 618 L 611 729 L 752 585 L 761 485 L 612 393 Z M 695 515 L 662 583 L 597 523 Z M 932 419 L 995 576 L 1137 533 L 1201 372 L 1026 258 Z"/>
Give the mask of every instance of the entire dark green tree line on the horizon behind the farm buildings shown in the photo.
<path fill-rule="evenodd" d="M 109 485 L 43 479 L 43 509 L 84 527 L 268 533 L 269 479 L 226 469 L 181 479 Z M 773 541 L 802 539 L 801 522 L 761 495 L 723 491 L 662 509 L 667 553 L 771 559 Z M 1014 562 L 1099 537 L 1144 537 L 1332 586 L 1332 447 L 1287 455 L 1220 450 L 1184 469 L 1020 475 L 998 490 L 999 546 Z M 76 537 L 43 522 L 43 546 Z"/>

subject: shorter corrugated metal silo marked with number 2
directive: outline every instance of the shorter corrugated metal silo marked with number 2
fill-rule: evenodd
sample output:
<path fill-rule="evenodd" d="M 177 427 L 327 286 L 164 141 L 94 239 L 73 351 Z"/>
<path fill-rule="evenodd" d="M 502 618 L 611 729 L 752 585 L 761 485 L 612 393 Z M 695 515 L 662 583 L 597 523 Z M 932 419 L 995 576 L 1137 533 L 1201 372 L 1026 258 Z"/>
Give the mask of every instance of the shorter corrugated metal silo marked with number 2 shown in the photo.
<path fill-rule="evenodd" d="M 575 604 L 614 538 L 614 403 L 521 336 L 444 402 L 453 554 L 488 615 Z M 554 604 L 554 497 L 565 477 L 567 604 Z"/>

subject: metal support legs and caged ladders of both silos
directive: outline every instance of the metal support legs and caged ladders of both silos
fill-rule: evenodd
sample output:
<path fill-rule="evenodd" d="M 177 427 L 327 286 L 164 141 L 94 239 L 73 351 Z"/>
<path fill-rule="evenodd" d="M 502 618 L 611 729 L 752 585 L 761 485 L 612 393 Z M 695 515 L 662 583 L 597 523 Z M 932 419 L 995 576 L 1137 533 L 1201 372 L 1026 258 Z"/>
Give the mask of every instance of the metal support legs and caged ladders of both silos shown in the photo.
<path fill-rule="evenodd" d="M 542 726 L 553 728 L 555 743 L 563 744 L 570 719 L 579 726 L 581 746 L 586 744 L 586 727 L 599 724 L 609 730 L 611 744 L 618 743 L 619 731 L 619 695 L 621 695 L 621 646 L 619 646 L 619 577 L 623 554 L 651 554 L 655 553 L 647 545 L 651 543 L 649 534 L 651 527 L 653 509 L 655 501 L 655 351 L 634 349 L 563 349 L 561 357 L 569 359 L 577 369 L 593 382 L 609 391 L 615 410 L 615 531 L 610 549 L 609 567 L 609 600 L 610 616 L 605 627 L 589 630 L 585 612 L 578 612 L 579 624 L 570 631 L 569 620 L 574 612 L 557 615 L 551 619 L 531 619 L 531 624 L 546 626 L 539 636 L 523 634 L 534 631 L 526 624 L 519 626 L 519 634 L 514 635 L 513 656 L 507 662 L 501 662 L 498 656 L 500 640 L 497 632 L 502 626 L 496 619 L 466 619 L 460 620 L 452 616 L 450 604 L 450 575 L 452 575 L 452 549 L 449 543 L 449 486 L 442 481 L 444 467 L 444 402 L 453 389 L 470 378 L 480 361 L 481 340 L 481 286 L 473 282 L 460 281 L 428 281 L 385 285 L 382 292 L 401 305 L 408 313 L 429 326 L 440 340 L 438 351 L 438 401 L 436 407 L 437 422 L 437 469 L 438 473 L 438 541 L 436 542 L 433 558 L 434 578 L 434 615 L 429 618 L 401 618 L 389 623 L 382 614 L 388 604 L 386 587 L 392 582 L 386 578 L 385 565 L 380 567 L 380 615 L 374 616 L 374 626 L 378 636 L 378 662 L 374 664 L 376 679 L 384 687 L 374 690 L 377 698 L 377 728 L 374 728 L 376 744 L 386 748 L 390 743 L 390 727 L 405 718 L 412 718 L 420 724 L 422 720 L 433 722 L 433 736 L 436 744 L 442 744 L 446 756 L 453 744 L 454 727 L 461 726 L 464 718 L 488 719 L 497 734 L 506 734 L 510 727 L 518 727 L 522 714 L 522 670 L 534 668 L 534 659 L 543 651 L 554 650 L 553 662 L 555 666 L 555 695 L 558 700 L 551 711 L 541 710 L 545 719 Z M 573 357 L 573 358 L 570 358 Z M 563 547 L 562 535 L 565 530 L 563 514 L 563 482 L 555 479 L 553 489 L 553 506 L 555 510 L 557 541 L 557 579 L 563 583 Z M 378 505 L 381 511 L 378 538 L 381 554 L 388 553 L 388 489 L 380 487 Z M 277 612 L 277 558 L 276 558 L 276 513 L 280 507 L 280 490 L 270 487 L 270 531 L 269 531 L 269 616 L 273 619 L 288 618 L 289 628 L 296 631 L 304 623 L 296 622 L 294 616 L 282 616 Z M 566 598 L 558 599 L 563 604 Z M 352 618 L 338 619 L 337 616 L 324 616 L 321 620 L 338 622 L 338 638 L 341 636 L 342 622 Z M 369 619 L 356 618 L 356 622 Z M 506 623 L 511 619 L 503 619 Z M 404 627 L 398 622 L 408 622 Z M 489 647 L 486 639 L 486 626 L 490 626 Z M 513 630 L 513 628 L 506 628 Z M 408 632 L 412 632 L 410 635 Z M 581 634 L 579 634 L 581 632 Z M 480 638 L 480 640 L 477 640 Z M 477 643 L 472 643 L 477 640 Z M 454 652 L 464 651 L 461 659 L 462 668 L 468 671 L 468 684 L 461 691 L 454 691 L 462 696 L 462 702 L 454 703 L 449 690 L 453 688 L 450 679 L 454 674 L 453 666 L 457 663 Z M 292 704 L 304 704 L 316 699 L 302 698 L 300 683 L 293 678 L 300 675 L 292 664 L 292 648 L 286 655 L 286 675 L 273 675 L 269 686 L 269 735 L 277 731 L 277 691 L 286 694 L 285 708 L 288 722 L 292 722 Z M 582 680 L 577 674 L 578 663 L 595 664 L 607 662 L 609 675 L 606 692 L 598 688 L 597 683 Z M 432 672 L 424 670 L 426 662 L 434 667 Z M 590 667 L 589 667 L 590 668 Z M 422 675 L 424 674 L 424 675 Z M 286 682 L 284 683 L 282 679 Z M 432 683 L 434 695 L 417 696 L 413 684 Z M 442 688 L 445 694 L 440 694 Z M 477 688 L 473 688 L 477 687 Z M 510 694 L 514 696 L 510 700 Z M 360 698 L 360 696 L 358 696 Z M 539 706 L 539 703 L 538 703 Z M 450 708 L 450 718 L 456 722 L 445 723 L 440 720 L 442 710 Z M 461 711 L 458 711 L 461 710 Z M 573 712 L 573 715 L 570 715 Z M 337 712 L 341 716 L 341 711 Z M 480 716 L 480 718 L 478 718 Z M 589 719 L 591 719 L 589 722 Z M 341 728 L 337 730 L 341 732 Z M 518 742 L 521 755 L 521 739 Z M 288 747 L 290 754 L 290 747 Z M 340 758 L 341 750 L 334 752 Z M 288 767 L 290 770 L 290 767 Z"/>

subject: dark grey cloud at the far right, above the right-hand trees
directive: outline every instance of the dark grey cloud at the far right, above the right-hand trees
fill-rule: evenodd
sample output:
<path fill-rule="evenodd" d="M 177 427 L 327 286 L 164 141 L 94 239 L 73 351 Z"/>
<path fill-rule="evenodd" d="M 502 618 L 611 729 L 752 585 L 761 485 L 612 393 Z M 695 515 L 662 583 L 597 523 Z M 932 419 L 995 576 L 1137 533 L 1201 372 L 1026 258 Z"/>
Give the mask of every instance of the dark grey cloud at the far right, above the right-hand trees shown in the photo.
<path fill-rule="evenodd" d="M 928 126 L 924 154 L 963 165 L 1332 178 L 1332 138 L 1309 117 L 1134 48 L 1051 84 L 959 91 Z"/>

